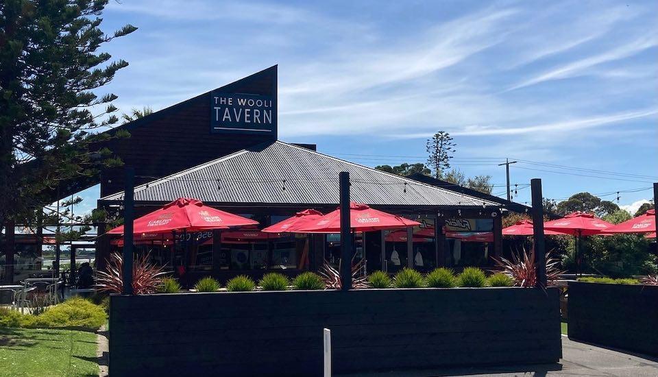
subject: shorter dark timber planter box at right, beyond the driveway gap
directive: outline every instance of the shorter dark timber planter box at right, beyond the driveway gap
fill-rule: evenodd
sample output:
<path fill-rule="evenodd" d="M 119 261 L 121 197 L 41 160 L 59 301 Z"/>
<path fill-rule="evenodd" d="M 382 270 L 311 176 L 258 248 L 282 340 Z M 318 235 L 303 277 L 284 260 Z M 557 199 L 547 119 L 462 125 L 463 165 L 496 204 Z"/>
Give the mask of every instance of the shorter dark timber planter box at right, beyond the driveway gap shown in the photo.
<path fill-rule="evenodd" d="M 569 282 L 569 337 L 658 355 L 658 287 Z"/>

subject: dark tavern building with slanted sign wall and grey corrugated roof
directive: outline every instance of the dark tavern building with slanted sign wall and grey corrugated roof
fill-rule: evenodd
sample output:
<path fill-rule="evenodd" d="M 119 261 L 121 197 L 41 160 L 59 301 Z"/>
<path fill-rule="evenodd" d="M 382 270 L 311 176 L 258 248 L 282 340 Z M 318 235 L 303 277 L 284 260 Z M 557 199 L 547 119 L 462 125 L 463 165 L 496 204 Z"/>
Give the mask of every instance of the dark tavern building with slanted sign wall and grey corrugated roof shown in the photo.
<path fill-rule="evenodd" d="M 409 178 L 317 152 L 313 144 L 279 141 L 277 66 L 116 127 L 130 138 L 107 147 L 134 167 L 136 216 L 178 197 L 249 217 L 259 226 L 171 236 L 136 234 L 138 253 L 166 265 L 184 284 L 202 276 L 226 281 L 268 271 L 297 275 L 325 261 L 337 265 L 339 234 L 260 232 L 295 212 L 337 208 L 339 172 L 350 172 L 353 202 L 361 202 L 421 223 L 404 230 L 358 233 L 356 259 L 367 270 L 395 273 L 404 267 L 430 271 L 439 266 L 488 266 L 502 252 L 501 215 L 526 207 L 423 175 Z M 285 125 L 282 125 L 285 127 Z M 123 168 L 68 182 L 60 197 L 100 184 L 97 207 L 122 216 Z M 53 197 L 57 200 L 57 197 Z M 97 224 L 97 268 L 121 249 L 119 236 Z"/>

